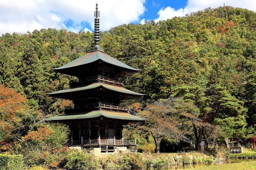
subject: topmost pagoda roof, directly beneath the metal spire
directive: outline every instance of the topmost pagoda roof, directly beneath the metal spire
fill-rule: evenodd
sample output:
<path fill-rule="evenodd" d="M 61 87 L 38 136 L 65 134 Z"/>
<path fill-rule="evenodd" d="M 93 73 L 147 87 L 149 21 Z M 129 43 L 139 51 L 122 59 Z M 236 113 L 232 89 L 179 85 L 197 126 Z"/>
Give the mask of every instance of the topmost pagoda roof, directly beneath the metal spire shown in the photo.
<path fill-rule="evenodd" d="M 61 70 L 65 70 L 65 69 L 69 69 L 69 68 L 73 68 L 76 66 L 81 66 L 81 65 L 86 65 L 89 63 L 93 63 L 97 60 L 101 60 L 105 63 L 114 65 L 114 66 L 118 66 L 118 67 L 122 67 L 124 69 L 130 70 L 130 71 L 139 71 L 138 69 L 132 68 L 118 60 L 116 60 L 115 58 L 111 57 L 110 55 L 102 52 L 102 51 L 92 51 L 89 52 L 61 67 L 58 68 L 53 68 L 53 70 L 55 71 L 61 71 Z"/>

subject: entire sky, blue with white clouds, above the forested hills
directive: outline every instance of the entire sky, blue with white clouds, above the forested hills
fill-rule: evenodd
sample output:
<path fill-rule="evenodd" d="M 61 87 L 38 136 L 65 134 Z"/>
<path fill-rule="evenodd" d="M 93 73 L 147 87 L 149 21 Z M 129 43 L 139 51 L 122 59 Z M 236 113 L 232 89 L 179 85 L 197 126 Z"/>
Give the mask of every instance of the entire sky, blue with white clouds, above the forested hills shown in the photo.
<path fill-rule="evenodd" d="M 256 0 L 1 0 L 0 35 L 41 30 L 93 31 L 95 4 L 100 30 L 120 24 L 182 17 L 207 7 L 226 5 L 256 11 Z"/>

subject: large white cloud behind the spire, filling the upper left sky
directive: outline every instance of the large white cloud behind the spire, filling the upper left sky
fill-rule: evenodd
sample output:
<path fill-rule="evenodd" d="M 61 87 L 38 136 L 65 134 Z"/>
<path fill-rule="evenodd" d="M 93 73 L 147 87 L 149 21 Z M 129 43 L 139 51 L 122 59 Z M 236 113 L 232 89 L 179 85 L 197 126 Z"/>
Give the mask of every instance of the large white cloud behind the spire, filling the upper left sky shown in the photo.
<path fill-rule="evenodd" d="M 120 24 L 139 21 L 145 12 L 145 0 L 97 0 L 101 31 Z M 0 1 L 0 35 L 6 32 L 27 32 L 42 28 L 65 28 L 68 31 L 82 28 L 86 21 L 94 27 L 96 0 L 3 0 Z M 72 26 L 65 21 L 72 20 Z"/>

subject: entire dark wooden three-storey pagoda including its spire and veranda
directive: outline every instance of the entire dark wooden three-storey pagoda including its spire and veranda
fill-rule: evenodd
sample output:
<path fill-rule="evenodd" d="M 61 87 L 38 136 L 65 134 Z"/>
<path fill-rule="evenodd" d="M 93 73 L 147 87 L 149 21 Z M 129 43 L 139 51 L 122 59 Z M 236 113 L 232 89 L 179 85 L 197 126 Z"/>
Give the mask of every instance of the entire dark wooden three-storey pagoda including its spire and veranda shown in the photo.
<path fill-rule="evenodd" d="M 95 12 L 95 46 L 76 60 L 53 70 L 75 76 L 70 87 L 49 93 L 51 97 L 69 99 L 73 105 L 65 107 L 65 114 L 46 121 L 67 124 L 71 130 L 69 146 L 100 147 L 102 152 L 114 151 L 116 146 L 134 147 L 137 142 L 124 140 L 123 125 L 143 121 L 130 115 L 120 101 L 139 98 L 139 94 L 123 87 L 118 77 L 138 72 L 104 53 L 99 46 L 99 12 Z"/>

